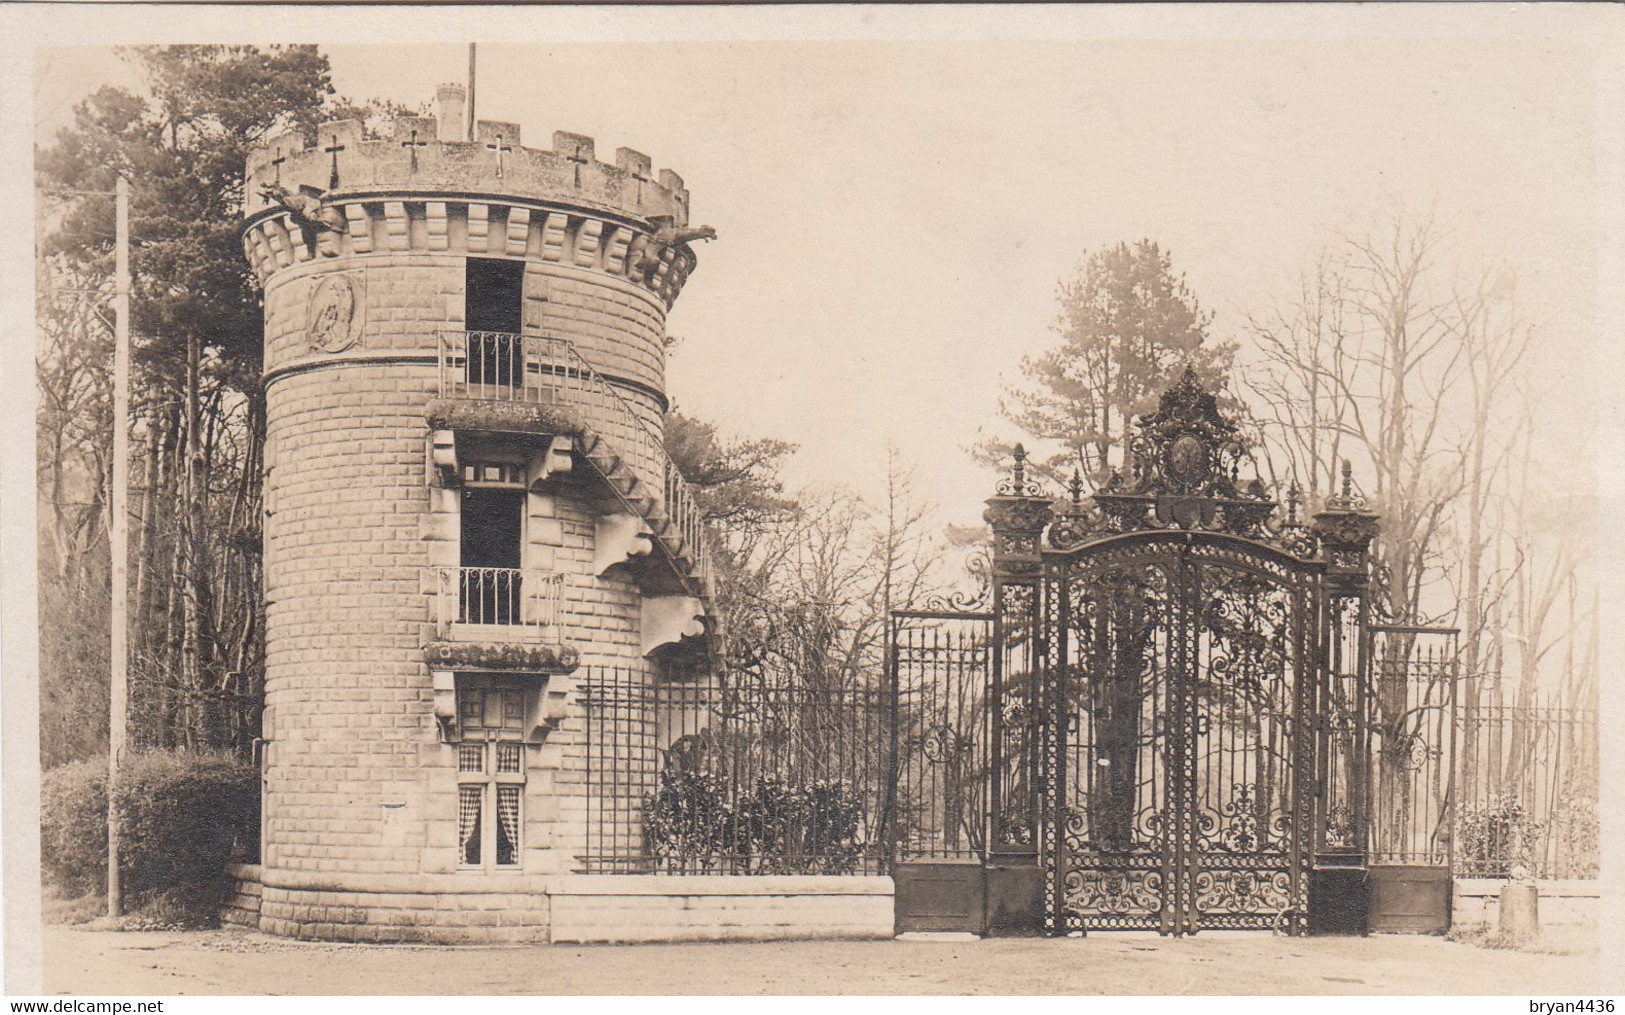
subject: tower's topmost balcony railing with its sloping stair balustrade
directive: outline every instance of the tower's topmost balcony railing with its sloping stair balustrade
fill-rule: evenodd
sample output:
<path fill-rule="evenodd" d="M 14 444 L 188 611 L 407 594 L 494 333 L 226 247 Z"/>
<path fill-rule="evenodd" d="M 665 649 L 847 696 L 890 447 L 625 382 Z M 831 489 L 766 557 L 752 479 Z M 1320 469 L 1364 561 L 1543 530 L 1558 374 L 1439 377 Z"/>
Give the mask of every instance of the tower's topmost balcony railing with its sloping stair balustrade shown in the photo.
<path fill-rule="evenodd" d="M 562 338 L 442 331 L 440 398 L 557 406 L 583 427 L 582 451 L 614 495 L 655 533 L 666 555 L 704 588 L 705 521 L 666 453 L 658 422 L 640 414 Z"/>

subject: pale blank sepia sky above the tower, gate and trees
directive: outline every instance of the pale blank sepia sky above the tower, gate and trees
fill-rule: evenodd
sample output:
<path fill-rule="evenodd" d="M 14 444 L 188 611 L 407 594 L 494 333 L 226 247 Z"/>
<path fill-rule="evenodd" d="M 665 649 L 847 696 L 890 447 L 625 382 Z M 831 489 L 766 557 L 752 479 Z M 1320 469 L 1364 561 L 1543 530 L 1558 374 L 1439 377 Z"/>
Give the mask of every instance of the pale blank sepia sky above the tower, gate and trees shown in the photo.
<path fill-rule="evenodd" d="M 957 39 L 947 15 L 861 8 L 710 31 L 671 11 L 666 29 L 549 11 L 500 34 L 533 42 L 492 42 L 478 19 L 465 34 L 479 117 L 520 122 L 533 146 L 593 135 L 600 153 L 626 145 L 684 175 L 718 239 L 697 247 L 670 317 L 670 393 L 726 432 L 798 443 L 793 484 L 878 497 L 895 445 L 939 521 L 975 523 L 994 477 L 967 448 L 1016 435 L 1001 387 L 1055 341 L 1056 283 L 1086 252 L 1157 240 L 1216 312 L 1212 335 L 1245 341 L 1246 315 L 1290 297 L 1321 248 L 1396 211 L 1435 216 L 1464 270 L 1516 268 L 1534 369 L 1565 391 L 1562 412 L 1592 412 L 1597 65 L 1583 32 L 1560 18 L 1393 32 L 1346 8 L 1245 37 L 1168 10 L 1008 11 Z M 616 32 L 632 41 L 593 41 Z M 322 45 L 348 97 L 421 104 L 466 76 L 462 39 L 354 34 Z M 41 132 L 109 81 L 135 75 L 107 49 L 37 50 Z M 1563 427 L 1545 432 L 1565 453 Z"/>

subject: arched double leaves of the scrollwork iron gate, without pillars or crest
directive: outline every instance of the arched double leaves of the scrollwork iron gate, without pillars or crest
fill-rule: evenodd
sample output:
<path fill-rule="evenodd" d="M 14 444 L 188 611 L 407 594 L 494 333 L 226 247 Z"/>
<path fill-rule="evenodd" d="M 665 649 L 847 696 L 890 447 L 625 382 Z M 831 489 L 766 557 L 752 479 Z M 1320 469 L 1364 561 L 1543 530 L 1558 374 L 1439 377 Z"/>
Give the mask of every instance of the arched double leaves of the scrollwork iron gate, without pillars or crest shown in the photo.
<path fill-rule="evenodd" d="M 1318 578 L 1193 533 L 1113 536 L 1046 565 L 1055 929 L 1297 926 Z"/>

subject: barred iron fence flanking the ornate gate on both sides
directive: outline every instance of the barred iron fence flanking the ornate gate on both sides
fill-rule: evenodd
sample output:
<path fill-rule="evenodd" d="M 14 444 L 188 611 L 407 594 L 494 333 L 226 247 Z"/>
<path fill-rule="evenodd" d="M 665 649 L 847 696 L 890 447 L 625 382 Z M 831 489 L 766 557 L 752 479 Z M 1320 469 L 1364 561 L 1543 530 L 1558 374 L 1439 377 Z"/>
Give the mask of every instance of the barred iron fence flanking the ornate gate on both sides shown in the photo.
<path fill-rule="evenodd" d="M 993 635 L 990 615 L 894 619 L 879 687 L 593 671 L 582 869 L 881 874 L 985 856 Z M 1597 877 L 1594 710 L 1459 705 L 1451 630 L 1373 627 L 1368 653 L 1370 862 Z"/>

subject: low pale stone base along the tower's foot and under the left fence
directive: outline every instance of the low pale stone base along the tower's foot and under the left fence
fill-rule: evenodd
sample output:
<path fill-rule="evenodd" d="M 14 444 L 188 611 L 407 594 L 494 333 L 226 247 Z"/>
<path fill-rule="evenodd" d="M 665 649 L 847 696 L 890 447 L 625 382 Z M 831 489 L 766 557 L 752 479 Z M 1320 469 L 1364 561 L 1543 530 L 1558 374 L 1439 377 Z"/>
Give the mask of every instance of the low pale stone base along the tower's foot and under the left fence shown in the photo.
<path fill-rule="evenodd" d="M 301 940 L 884 939 L 889 877 L 314 875 L 237 864 L 221 921 Z"/>

